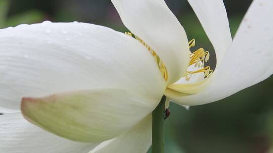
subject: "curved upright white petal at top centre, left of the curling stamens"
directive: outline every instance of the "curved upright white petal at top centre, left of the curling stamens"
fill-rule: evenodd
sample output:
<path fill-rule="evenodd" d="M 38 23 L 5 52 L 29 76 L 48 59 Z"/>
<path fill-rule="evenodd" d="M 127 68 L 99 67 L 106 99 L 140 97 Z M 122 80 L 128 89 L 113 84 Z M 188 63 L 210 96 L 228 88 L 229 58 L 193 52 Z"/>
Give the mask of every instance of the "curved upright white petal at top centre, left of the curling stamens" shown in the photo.
<path fill-rule="evenodd" d="M 124 25 L 151 46 L 165 63 L 168 84 L 189 64 L 186 33 L 164 0 L 112 0 Z"/>

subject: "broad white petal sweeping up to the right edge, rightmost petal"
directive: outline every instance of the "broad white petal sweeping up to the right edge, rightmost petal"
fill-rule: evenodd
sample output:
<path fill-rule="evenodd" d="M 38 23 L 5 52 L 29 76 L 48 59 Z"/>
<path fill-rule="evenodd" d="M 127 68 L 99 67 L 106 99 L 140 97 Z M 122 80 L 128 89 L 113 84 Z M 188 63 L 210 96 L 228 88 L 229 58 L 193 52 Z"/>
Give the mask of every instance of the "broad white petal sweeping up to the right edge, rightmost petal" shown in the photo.
<path fill-rule="evenodd" d="M 167 92 L 173 101 L 200 105 L 228 97 L 270 77 L 273 73 L 273 1 L 255 0 L 244 17 L 234 42 L 212 84 L 195 95 Z M 165 93 L 166 94 L 166 93 Z"/>

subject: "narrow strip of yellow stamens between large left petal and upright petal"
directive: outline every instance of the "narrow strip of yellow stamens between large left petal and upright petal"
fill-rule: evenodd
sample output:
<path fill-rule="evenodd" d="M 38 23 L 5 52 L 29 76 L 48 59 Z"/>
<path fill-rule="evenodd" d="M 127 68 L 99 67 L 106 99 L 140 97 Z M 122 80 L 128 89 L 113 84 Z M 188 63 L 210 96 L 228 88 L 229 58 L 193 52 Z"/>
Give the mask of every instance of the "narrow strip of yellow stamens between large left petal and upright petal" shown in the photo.
<path fill-rule="evenodd" d="M 162 73 L 162 77 L 165 79 L 165 81 L 167 81 L 169 78 L 167 68 L 166 68 L 165 64 L 163 63 L 163 61 L 160 59 L 160 57 L 156 54 L 156 52 L 148 44 L 146 44 L 142 39 L 140 39 L 138 36 L 136 36 L 130 32 L 125 32 L 125 34 L 135 38 L 136 40 L 138 40 L 140 43 L 142 43 L 148 49 L 148 51 L 154 57 L 154 59 L 157 63 L 157 66 L 158 66 L 160 72 Z"/>

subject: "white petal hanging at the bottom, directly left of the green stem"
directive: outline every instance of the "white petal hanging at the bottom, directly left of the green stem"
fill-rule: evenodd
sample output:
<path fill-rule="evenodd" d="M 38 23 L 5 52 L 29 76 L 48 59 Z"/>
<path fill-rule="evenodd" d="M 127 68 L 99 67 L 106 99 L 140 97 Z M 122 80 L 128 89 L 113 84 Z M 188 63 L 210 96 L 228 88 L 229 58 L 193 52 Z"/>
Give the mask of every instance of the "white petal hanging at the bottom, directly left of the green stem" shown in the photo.
<path fill-rule="evenodd" d="M 119 137 L 103 142 L 90 153 L 146 153 L 152 143 L 152 114 Z"/>

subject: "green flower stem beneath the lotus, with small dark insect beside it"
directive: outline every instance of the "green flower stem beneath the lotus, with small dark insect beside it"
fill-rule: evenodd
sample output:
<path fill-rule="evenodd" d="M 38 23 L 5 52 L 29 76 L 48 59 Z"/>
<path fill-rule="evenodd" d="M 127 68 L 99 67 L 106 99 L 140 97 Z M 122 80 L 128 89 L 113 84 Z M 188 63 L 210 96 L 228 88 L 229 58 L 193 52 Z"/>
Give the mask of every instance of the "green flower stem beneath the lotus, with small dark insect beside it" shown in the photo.
<path fill-rule="evenodd" d="M 163 96 L 160 103 L 153 111 L 152 153 L 164 153 L 165 101 L 166 96 Z"/>

